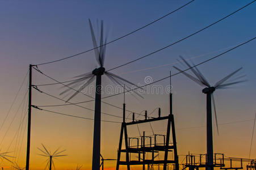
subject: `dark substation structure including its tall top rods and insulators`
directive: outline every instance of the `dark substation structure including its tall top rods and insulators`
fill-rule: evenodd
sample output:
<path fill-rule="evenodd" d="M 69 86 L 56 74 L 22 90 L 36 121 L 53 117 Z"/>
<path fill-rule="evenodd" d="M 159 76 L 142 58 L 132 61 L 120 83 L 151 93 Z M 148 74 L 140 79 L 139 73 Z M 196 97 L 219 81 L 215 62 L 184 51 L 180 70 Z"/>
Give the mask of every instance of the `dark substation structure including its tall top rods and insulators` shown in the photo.
<path fill-rule="evenodd" d="M 170 92 L 170 108 L 172 108 L 172 93 Z M 145 170 L 145 165 L 148 165 L 148 169 L 150 165 L 153 167 L 154 164 L 163 164 L 163 170 L 167 169 L 167 164 L 174 164 L 175 170 L 179 169 L 179 162 L 178 162 L 178 154 L 177 154 L 177 143 L 176 143 L 176 136 L 175 136 L 175 126 L 174 126 L 174 116 L 172 113 L 172 109 L 170 109 L 170 113 L 168 116 L 161 117 L 161 109 L 158 110 L 158 117 L 156 118 L 149 118 L 147 116 L 147 112 L 145 111 L 145 120 L 139 120 L 132 122 L 122 122 L 121 124 L 121 133 L 120 133 L 120 140 L 119 140 L 119 148 L 117 151 L 117 164 L 116 170 L 119 170 L 120 165 L 127 165 L 127 169 L 130 170 L 131 165 L 142 165 L 143 170 Z M 123 108 L 123 116 L 125 117 L 125 107 Z M 166 135 L 163 136 L 163 143 L 157 142 L 158 134 L 155 134 L 153 137 L 146 136 L 145 131 L 140 138 L 128 138 L 127 134 L 127 126 L 129 125 L 138 125 L 143 124 L 146 122 L 154 122 L 154 121 L 161 121 L 167 120 L 167 131 Z M 171 130 L 171 132 L 170 132 Z M 170 133 L 172 133 L 173 143 L 170 143 Z M 122 142 L 123 136 L 125 141 L 125 148 L 122 149 Z M 149 144 L 146 144 L 146 138 L 149 138 Z M 154 138 L 154 140 L 153 140 Z M 129 139 L 129 142 L 128 142 Z M 137 140 L 137 146 L 131 146 L 130 139 Z M 139 145 L 139 141 L 141 145 Z M 125 161 L 121 161 L 121 153 L 125 153 Z M 155 153 L 163 152 L 164 158 L 162 160 L 155 160 L 156 156 Z M 173 160 L 168 159 L 169 152 L 174 152 Z M 145 159 L 145 154 L 151 154 L 151 159 Z M 138 154 L 138 160 L 131 160 L 131 154 Z M 142 154 L 142 158 L 141 158 Z"/>

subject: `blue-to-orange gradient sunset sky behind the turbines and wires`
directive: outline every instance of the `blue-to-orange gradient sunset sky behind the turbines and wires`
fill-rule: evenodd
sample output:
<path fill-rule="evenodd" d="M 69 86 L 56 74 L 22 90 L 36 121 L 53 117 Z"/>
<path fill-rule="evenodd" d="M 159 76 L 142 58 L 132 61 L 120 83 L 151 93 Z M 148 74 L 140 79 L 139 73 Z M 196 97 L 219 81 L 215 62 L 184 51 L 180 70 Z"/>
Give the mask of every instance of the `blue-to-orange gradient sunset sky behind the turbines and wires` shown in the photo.
<path fill-rule="evenodd" d="M 94 26 L 97 19 L 104 20 L 104 27 L 108 32 L 108 40 L 113 40 L 152 22 L 154 19 L 160 18 L 187 2 L 178 0 L 1 1 L 0 124 L 2 125 L 30 63 L 38 64 L 60 59 L 93 47 L 89 18 Z M 171 42 L 175 42 L 223 18 L 249 2 L 196 0 L 159 22 L 125 37 L 125 39 L 107 45 L 105 67 L 106 69 L 111 69 L 169 45 Z M 200 56 L 193 59 L 195 63 L 199 63 L 224 52 L 225 49 L 255 37 L 255 20 L 256 3 L 253 3 L 223 22 L 198 33 L 198 35 L 192 36 L 148 58 L 113 70 L 113 73 L 120 74 L 125 79 L 141 84 L 145 84 L 144 79 L 146 76 L 151 76 L 153 80 L 161 79 L 169 75 L 171 63 L 174 63 L 179 55 L 185 58 Z M 97 33 L 97 31 L 95 32 Z M 199 69 L 212 84 L 239 67 L 243 67 L 241 72 L 246 74 L 246 79 L 249 80 L 232 88 L 215 92 L 220 134 L 217 135 L 215 128 L 213 131 L 214 152 L 221 152 L 232 157 L 249 157 L 256 101 L 254 88 L 256 86 L 255 47 L 256 41 L 254 40 L 232 52 L 224 54 L 220 58 L 199 66 Z M 161 66 L 168 63 L 170 65 Z M 161 67 L 147 69 L 157 66 Z M 57 80 L 64 81 L 72 79 L 73 76 L 87 73 L 95 67 L 94 53 L 89 52 L 72 59 L 40 66 L 39 69 Z M 136 71 L 140 69 L 146 70 Z M 172 70 L 175 73 L 175 70 Z M 32 78 L 33 84 L 54 83 L 36 71 L 33 71 Z M 187 154 L 188 151 L 204 154 L 206 152 L 206 128 L 204 127 L 206 114 L 205 95 L 201 92 L 202 87 L 181 74 L 174 76 L 172 82 L 178 154 Z M 24 94 L 27 91 L 26 84 L 27 79 L 7 121 L 0 130 L 1 138 L 9 129 L 19 104 L 22 103 Z M 104 77 L 103 86 L 107 84 L 112 83 Z M 163 87 L 168 84 L 169 80 L 163 80 L 158 83 Z M 58 96 L 62 90 L 60 87 L 47 86 L 40 87 L 40 89 Z M 163 114 L 167 115 L 169 113 L 168 94 L 145 94 L 144 97 L 145 99 L 136 100 L 132 96 L 127 96 L 127 108 L 140 113 L 145 109 L 148 112 L 152 112 L 155 108 L 161 107 Z M 85 101 L 88 99 L 86 96 L 78 95 L 72 101 Z M 115 96 L 104 101 L 121 107 L 122 99 L 123 96 Z M 22 146 L 21 154 L 17 159 L 20 167 L 25 166 L 26 121 L 23 122 L 20 130 L 22 133 L 25 131 L 23 142 L 21 140 L 22 137 L 20 137 L 19 142 L 16 142 L 14 137 L 19 128 L 22 113 L 27 111 L 26 104 L 24 103 L 24 112 L 19 111 L 16 114 L 0 146 L 1 152 L 12 151 L 10 155 L 15 155 L 15 148 L 18 148 L 18 143 Z M 32 104 L 63 103 L 33 90 Z M 83 104 L 83 106 L 93 109 L 94 103 Z M 93 118 L 93 112 L 77 107 L 47 109 Z M 102 112 L 122 115 L 121 110 L 105 104 L 102 104 Z M 156 113 L 154 114 L 152 115 L 156 116 Z M 121 118 L 113 118 L 106 115 L 103 115 L 102 119 L 121 121 Z M 229 122 L 233 123 L 226 124 Z M 163 130 L 166 130 L 166 124 L 163 123 L 153 123 L 152 126 L 157 133 L 164 133 Z M 148 135 L 152 134 L 149 124 L 141 125 L 140 131 L 146 131 Z M 128 133 L 130 137 L 139 136 L 136 127 L 128 129 Z M 102 122 L 102 155 L 104 158 L 116 158 L 119 134 L 120 124 Z M 11 143 L 12 139 L 14 139 L 14 142 Z M 256 157 L 255 140 L 254 136 L 251 158 Z M 78 163 L 83 165 L 82 169 L 90 169 L 92 142 L 92 121 L 63 117 L 32 109 L 31 169 L 44 169 L 45 167 L 45 158 L 37 155 L 40 153 L 37 147 L 41 147 L 41 143 L 44 143 L 51 150 L 60 146 L 66 149 L 65 153 L 68 156 L 56 160 L 56 169 L 75 169 Z M 180 159 L 183 159 L 182 156 Z M 3 161 L 1 166 L 11 167 L 11 164 Z M 115 163 L 106 162 L 104 166 L 106 168 L 115 167 Z"/>

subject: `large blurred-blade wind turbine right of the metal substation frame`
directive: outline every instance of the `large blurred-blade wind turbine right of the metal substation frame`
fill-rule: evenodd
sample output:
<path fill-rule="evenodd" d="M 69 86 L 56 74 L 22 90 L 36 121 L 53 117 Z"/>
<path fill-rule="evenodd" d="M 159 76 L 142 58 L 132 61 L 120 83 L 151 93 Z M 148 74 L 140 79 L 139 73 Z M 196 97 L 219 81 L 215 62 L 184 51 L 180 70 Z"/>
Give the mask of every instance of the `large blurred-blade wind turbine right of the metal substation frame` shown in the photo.
<path fill-rule="evenodd" d="M 180 56 L 181 57 L 181 56 Z M 182 72 L 184 75 L 186 75 L 188 78 L 193 80 L 194 82 L 198 83 L 200 86 L 205 87 L 202 92 L 206 94 L 206 104 L 207 104 L 207 164 L 209 167 L 207 169 L 213 169 L 213 140 L 212 140 L 212 103 L 213 103 L 213 109 L 215 112 L 215 121 L 216 121 L 216 127 L 217 127 L 217 133 L 219 134 L 219 128 L 217 123 L 217 114 L 216 114 L 216 107 L 215 107 L 215 99 L 213 96 L 213 92 L 215 90 L 228 88 L 228 86 L 231 86 L 233 84 L 242 83 L 246 80 L 238 80 L 245 75 L 238 76 L 234 78 L 233 80 L 230 80 L 229 82 L 226 82 L 229 78 L 231 78 L 234 74 L 236 74 L 238 71 L 242 69 L 237 69 L 236 71 L 230 73 L 229 75 L 225 76 L 223 79 L 220 79 L 219 82 L 215 83 L 214 86 L 211 86 L 208 81 L 205 79 L 202 73 L 198 70 L 196 67 L 192 67 L 183 57 L 181 57 L 182 61 L 186 63 L 186 65 L 191 68 L 191 72 L 195 75 L 192 76 L 191 74 L 188 74 L 178 67 L 173 66 L 178 71 Z"/>

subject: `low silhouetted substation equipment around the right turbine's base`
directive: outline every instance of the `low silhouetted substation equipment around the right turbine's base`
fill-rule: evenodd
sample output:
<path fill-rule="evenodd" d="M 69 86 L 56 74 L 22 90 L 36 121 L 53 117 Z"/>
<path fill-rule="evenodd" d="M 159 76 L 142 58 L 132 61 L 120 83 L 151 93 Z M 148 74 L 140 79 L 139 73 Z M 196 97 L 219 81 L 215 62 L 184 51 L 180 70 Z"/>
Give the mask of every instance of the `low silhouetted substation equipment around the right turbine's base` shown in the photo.
<path fill-rule="evenodd" d="M 243 169 L 243 163 L 252 163 L 253 159 L 244 158 L 225 158 L 224 154 L 214 154 L 212 167 L 219 167 L 220 169 Z M 236 163 L 236 164 L 234 164 Z M 238 163 L 238 164 L 237 164 Z M 188 168 L 189 170 L 207 168 L 207 154 L 188 154 L 186 155 L 186 163 L 183 164 L 183 169 Z M 246 166 L 250 167 L 250 166 Z"/>

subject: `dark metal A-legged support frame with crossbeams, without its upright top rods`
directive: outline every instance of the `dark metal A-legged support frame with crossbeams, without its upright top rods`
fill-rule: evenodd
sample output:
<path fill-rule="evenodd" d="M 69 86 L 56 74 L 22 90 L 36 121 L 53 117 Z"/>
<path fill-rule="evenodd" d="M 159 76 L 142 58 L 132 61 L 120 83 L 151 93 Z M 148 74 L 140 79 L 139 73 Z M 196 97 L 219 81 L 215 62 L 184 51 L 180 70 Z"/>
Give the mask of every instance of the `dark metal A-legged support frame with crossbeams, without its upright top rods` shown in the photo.
<path fill-rule="evenodd" d="M 160 145 L 156 143 L 156 140 L 150 140 L 151 142 L 154 141 L 154 143 L 149 146 L 145 145 L 145 131 L 143 132 L 143 135 L 141 137 L 141 146 L 132 147 L 128 145 L 128 134 L 127 134 L 127 126 L 128 125 L 135 125 L 135 124 L 142 124 L 145 122 L 152 122 L 152 121 L 161 121 L 161 120 L 167 120 L 167 133 L 165 138 L 165 144 Z M 172 131 L 170 131 L 172 130 Z M 172 132 L 172 139 L 173 142 L 172 145 L 170 145 L 170 132 Z M 122 142 L 123 142 L 123 136 L 125 141 L 125 148 L 122 149 Z M 152 137 L 151 137 L 152 138 Z M 139 143 L 139 140 L 137 141 Z M 139 144 L 138 144 L 139 145 Z M 165 152 L 165 157 L 163 160 L 154 160 L 154 153 L 156 152 Z M 174 152 L 174 160 L 168 159 L 168 153 L 173 151 Z M 125 161 L 121 161 L 121 152 L 125 153 Z M 145 159 L 146 152 L 152 154 L 152 159 Z M 139 160 L 131 160 L 129 154 L 135 153 L 139 155 Z M 140 160 L 140 155 L 142 154 L 142 160 Z M 169 116 L 165 117 L 158 117 L 158 118 L 148 118 L 145 120 L 140 121 L 134 121 L 134 122 L 122 122 L 121 124 L 121 132 L 120 132 L 120 141 L 119 141 L 119 148 L 117 151 L 117 164 L 116 169 L 118 170 L 120 165 L 127 165 L 127 169 L 129 170 L 131 165 L 142 165 L 142 169 L 145 170 L 145 165 L 151 165 L 151 164 L 163 164 L 163 169 L 167 169 L 167 164 L 175 164 L 175 170 L 179 169 L 178 164 L 178 154 L 177 154 L 177 144 L 176 144 L 176 137 L 175 137 L 175 128 L 174 128 L 174 116 L 173 114 L 169 114 Z"/>

